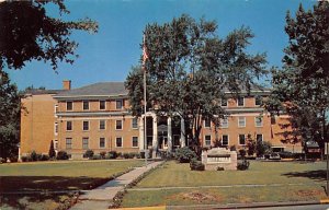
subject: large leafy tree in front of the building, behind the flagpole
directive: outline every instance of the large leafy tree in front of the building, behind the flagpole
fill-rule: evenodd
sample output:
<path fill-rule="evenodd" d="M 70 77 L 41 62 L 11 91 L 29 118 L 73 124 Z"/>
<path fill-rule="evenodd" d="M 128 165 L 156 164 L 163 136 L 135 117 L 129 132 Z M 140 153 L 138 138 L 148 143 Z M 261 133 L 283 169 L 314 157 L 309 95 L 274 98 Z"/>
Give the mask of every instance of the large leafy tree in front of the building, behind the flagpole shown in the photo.
<path fill-rule="evenodd" d="M 214 21 L 196 22 L 188 15 L 170 23 L 145 28 L 147 50 L 148 109 L 157 115 L 180 116 L 185 120 L 190 147 L 200 149 L 202 119 L 216 127 L 227 113 L 220 107 L 225 90 L 238 96 L 250 91 L 263 75 L 265 55 L 246 51 L 253 34 L 248 27 L 236 30 L 222 39 Z M 143 70 L 134 68 L 126 80 L 132 112 L 143 113 Z"/>

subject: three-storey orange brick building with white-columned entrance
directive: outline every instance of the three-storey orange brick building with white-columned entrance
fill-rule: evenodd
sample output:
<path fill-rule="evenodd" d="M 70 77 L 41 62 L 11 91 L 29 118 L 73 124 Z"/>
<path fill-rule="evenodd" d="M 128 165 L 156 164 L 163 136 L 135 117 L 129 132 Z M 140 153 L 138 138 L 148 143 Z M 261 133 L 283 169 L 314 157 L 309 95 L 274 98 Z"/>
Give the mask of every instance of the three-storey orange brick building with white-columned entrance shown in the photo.
<path fill-rule="evenodd" d="M 101 82 L 72 90 L 70 86 L 70 81 L 64 81 L 64 90 L 31 92 L 22 100 L 22 155 L 33 150 L 48 153 L 52 140 L 57 151 L 65 150 L 72 159 L 81 159 L 88 149 L 94 153 L 144 150 L 144 120 L 129 114 L 123 82 Z M 253 90 L 238 100 L 223 101 L 222 106 L 230 115 L 217 131 L 211 121 L 203 121 L 202 145 L 211 147 L 220 140 L 223 145 L 245 148 L 250 135 L 252 139 L 270 141 L 275 150 L 300 152 L 300 144 L 281 142 L 280 124 L 287 116 L 270 117 L 260 107 L 261 98 L 269 94 L 270 90 Z M 186 145 L 183 119 L 151 112 L 146 117 L 148 148 L 171 151 Z"/>

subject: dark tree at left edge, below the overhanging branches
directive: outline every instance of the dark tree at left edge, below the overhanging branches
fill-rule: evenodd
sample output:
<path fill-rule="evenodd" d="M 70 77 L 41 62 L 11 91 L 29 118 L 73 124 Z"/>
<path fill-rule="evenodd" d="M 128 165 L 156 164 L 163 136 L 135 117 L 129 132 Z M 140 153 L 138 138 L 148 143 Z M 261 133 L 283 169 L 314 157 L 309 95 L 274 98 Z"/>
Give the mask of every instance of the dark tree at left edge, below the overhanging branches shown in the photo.
<path fill-rule="evenodd" d="M 0 156 L 18 155 L 21 96 L 8 73 L 0 71 Z"/>

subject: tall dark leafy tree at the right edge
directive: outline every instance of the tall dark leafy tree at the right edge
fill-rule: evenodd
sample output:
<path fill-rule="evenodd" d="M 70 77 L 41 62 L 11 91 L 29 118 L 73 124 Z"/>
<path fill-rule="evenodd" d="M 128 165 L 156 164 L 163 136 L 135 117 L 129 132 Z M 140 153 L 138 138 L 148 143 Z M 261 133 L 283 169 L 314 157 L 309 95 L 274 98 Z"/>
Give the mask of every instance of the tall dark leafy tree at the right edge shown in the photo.
<path fill-rule="evenodd" d="M 329 112 L 329 2 L 313 10 L 300 4 L 296 16 L 286 15 L 290 43 L 283 69 L 273 71 L 273 92 L 266 103 L 271 112 L 291 116 L 285 141 L 328 141 Z M 326 116 L 327 115 L 327 116 Z"/>

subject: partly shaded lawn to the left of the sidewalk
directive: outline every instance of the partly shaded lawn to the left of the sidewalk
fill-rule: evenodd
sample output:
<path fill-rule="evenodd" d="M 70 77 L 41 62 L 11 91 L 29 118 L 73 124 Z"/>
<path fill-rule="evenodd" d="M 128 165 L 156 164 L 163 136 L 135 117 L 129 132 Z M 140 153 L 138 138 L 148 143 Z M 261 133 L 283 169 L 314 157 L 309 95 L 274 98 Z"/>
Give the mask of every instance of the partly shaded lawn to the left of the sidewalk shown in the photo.
<path fill-rule="evenodd" d="M 0 209 L 56 209 L 68 202 L 72 194 L 52 191 L 92 189 L 143 163 L 129 160 L 1 164 Z"/>

